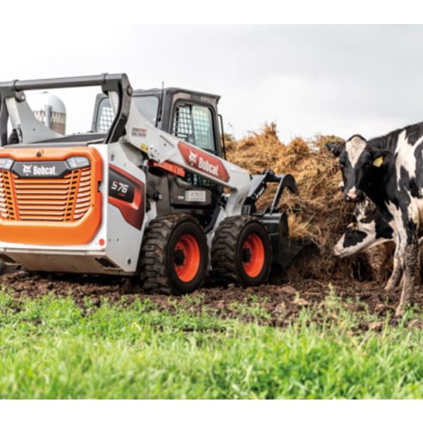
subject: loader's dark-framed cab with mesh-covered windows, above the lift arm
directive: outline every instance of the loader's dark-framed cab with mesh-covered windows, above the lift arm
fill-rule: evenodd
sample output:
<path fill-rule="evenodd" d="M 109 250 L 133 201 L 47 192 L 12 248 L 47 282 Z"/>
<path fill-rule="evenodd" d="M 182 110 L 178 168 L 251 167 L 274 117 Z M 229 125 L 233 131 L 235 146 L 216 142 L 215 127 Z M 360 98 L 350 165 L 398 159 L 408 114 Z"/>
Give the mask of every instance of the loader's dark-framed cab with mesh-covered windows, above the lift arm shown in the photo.
<path fill-rule="evenodd" d="M 142 116 L 157 128 L 221 157 L 219 99 L 218 95 L 175 87 L 135 90 L 132 96 Z M 113 118 L 109 97 L 98 94 L 92 131 L 106 133 Z"/>

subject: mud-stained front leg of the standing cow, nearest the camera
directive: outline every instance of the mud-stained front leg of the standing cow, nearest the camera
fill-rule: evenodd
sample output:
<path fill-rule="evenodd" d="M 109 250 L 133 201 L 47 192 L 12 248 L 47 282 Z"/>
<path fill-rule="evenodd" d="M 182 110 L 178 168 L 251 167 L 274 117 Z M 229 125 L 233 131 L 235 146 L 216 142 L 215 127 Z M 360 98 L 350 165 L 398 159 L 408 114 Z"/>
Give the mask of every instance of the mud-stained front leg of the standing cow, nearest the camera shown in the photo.
<path fill-rule="evenodd" d="M 403 242 L 400 243 L 400 255 L 401 262 L 403 263 L 404 276 L 403 289 L 401 291 L 400 304 L 396 310 L 396 316 L 403 314 L 405 307 L 411 304 L 414 286 L 419 280 L 417 236 L 415 231 L 411 229 L 413 223 L 410 222 L 407 226 L 410 229 L 407 229 L 405 240 L 402 240 Z"/>

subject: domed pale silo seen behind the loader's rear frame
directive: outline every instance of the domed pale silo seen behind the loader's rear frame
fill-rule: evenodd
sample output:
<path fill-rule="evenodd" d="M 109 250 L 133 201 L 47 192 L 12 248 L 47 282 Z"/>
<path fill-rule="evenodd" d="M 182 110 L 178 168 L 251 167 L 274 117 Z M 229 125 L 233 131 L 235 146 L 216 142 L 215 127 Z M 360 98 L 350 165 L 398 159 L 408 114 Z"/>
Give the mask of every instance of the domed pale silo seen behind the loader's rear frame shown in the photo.
<path fill-rule="evenodd" d="M 59 97 L 48 91 L 43 91 L 32 97 L 29 103 L 38 121 L 54 132 L 65 135 L 66 107 Z"/>

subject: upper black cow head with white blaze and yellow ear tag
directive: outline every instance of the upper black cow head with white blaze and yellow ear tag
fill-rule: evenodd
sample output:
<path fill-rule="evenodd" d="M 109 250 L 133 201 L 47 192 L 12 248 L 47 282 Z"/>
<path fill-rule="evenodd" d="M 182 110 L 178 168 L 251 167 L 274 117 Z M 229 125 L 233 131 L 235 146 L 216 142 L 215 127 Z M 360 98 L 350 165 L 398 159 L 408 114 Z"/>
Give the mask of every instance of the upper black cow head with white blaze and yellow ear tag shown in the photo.
<path fill-rule="evenodd" d="M 362 202 L 378 168 L 392 157 L 391 152 L 373 147 L 361 135 L 353 135 L 343 144 L 328 142 L 326 148 L 338 157 L 345 201 Z"/>

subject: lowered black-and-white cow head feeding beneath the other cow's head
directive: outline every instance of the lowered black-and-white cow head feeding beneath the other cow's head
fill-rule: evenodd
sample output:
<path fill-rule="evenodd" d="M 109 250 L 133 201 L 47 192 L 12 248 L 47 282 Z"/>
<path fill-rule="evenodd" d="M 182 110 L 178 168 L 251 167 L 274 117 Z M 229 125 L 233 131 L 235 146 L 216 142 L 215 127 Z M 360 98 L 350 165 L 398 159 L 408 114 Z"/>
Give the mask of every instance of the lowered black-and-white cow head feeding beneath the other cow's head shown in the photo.
<path fill-rule="evenodd" d="M 393 240 L 393 229 L 381 214 L 372 209 L 369 200 L 358 203 L 354 210 L 354 222 L 350 223 L 333 248 L 338 257 L 348 257 L 374 245 Z"/>

